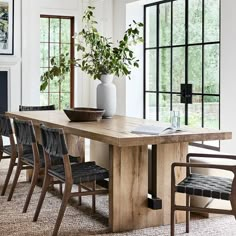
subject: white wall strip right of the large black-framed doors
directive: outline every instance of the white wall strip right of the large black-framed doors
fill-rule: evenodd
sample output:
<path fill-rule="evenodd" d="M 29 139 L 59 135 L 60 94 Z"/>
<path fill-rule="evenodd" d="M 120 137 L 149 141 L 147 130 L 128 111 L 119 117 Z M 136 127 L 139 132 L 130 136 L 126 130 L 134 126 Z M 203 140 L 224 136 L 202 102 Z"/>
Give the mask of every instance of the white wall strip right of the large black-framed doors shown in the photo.
<path fill-rule="evenodd" d="M 236 153 L 236 1 L 221 1 L 221 129 L 233 132 L 223 141 L 224 152 Z"/>

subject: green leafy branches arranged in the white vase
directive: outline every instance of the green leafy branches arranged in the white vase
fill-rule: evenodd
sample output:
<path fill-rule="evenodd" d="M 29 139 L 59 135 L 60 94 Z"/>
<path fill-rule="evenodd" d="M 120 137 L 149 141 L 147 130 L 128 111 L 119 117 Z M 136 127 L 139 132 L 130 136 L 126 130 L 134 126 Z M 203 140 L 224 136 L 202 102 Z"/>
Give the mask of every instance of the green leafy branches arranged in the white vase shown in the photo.
<path fill-rule="evenodd" d="M 58 63 L 53 57 L 51 59 L 53 67 L 41 76 L 40 90 L 47 87 L 50 79 L 63 77 L 70 70 L 71 64 L 79 67 L 93 79 L 100 79 L 103 74 L 128 76 L 130 79 L 131 68 L 139 67 L 139 60 L 136 59 L 131 46 L 143 41 L 140 36 L 143 24 L 133 21 L 115 47 L 111 38 L 104 37 L 98 32 L 94 9 L 91 6 L 86 9 L 82 19 L 84 28 L 76 35 L 79 57 L 70 60 L 67 58 L 68 54 L 62 54 Z"/>

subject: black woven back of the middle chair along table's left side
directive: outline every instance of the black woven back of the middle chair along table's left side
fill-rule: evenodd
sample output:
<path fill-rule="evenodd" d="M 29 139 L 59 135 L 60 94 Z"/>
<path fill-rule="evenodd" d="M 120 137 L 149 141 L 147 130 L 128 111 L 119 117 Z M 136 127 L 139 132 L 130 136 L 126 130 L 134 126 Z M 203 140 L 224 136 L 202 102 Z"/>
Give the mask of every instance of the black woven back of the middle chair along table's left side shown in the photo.
<path fill-rule="evenodd" d="M 14 118 L 14 128 L 18 144 L 31 145 L 32 143 L 36 143 L 32 121 Z"/>

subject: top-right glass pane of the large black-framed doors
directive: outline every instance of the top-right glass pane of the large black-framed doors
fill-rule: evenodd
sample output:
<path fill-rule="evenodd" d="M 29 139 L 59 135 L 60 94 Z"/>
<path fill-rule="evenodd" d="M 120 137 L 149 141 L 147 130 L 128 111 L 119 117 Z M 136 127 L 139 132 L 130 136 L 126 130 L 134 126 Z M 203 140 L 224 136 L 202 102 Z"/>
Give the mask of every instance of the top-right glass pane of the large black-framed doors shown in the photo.
<path fill-rule="evenodd" d="M 207 0 L 204 1 L 204 40 L 219 41 L 219 29 L 220 29 L 220 1 L 219 0 Z"/>

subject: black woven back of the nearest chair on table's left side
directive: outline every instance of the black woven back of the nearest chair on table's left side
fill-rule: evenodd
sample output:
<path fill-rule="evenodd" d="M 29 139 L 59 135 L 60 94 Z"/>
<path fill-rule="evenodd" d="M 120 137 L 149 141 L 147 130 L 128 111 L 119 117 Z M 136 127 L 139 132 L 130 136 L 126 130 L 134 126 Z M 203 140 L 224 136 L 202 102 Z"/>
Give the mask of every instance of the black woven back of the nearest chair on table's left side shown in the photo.
<path fill-rule="evenodd" d="M 41 124 L 40 130 L 43 148 L 50 157 L 63 157 L 68 154 L 62 129 L 52 129 Z"/>

